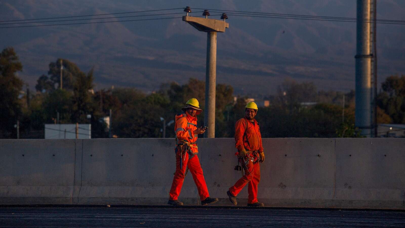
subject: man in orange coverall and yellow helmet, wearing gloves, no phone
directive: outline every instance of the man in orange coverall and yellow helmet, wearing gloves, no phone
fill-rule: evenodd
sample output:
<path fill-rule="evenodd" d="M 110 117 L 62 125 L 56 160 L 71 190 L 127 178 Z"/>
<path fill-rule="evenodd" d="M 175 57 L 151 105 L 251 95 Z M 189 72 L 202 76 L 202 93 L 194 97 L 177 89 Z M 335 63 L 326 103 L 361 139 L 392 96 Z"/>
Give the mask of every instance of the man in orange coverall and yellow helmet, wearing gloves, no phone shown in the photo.
<path fill-rule="evenodd" d="M 260 134 L 259 123 L 254 119 L 258 111 L 254 102 L 247 103 L 245 117 L 235 123 L 235 142 L 239 162 L 245 174 L 239 179 L 226 194 L 230 202 L 237 205 L 236 196 L 247 184 L 247 206 L 264 206 L 257 200 L 257 185 L 260 182 L 259 161 L 264 161 L 262 146 L 262 135 Z"/>

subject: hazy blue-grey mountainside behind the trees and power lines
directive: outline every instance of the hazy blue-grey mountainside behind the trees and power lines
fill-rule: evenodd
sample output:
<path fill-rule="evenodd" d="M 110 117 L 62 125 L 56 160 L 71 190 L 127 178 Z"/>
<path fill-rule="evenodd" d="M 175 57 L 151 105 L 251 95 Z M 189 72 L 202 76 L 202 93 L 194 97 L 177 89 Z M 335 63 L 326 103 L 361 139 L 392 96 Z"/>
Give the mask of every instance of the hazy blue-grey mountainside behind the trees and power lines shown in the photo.
<path fill-rule="evenodd" d="M 319 90 L 350 91 L 355 87 L 356 23 L 245 17 L 242 12 L 230 12 L 356 17 L 354 0 L 0 0 L 2 21 L 108 13 L 122 14 L 98 16 L 115 17 L 108 19 L 80 17 L 66 19 L 86 20 L 51 23 L 158 18 L 0 28 L 0 48 L 15 48 L 23 64 L 19 76 L 31 88 L 57 58 L 75 62 L 85 72 L 94 68 L 96 88 L 114 85 L 151 92 L 162 83 L 183 84 L 190 77 L 205 80 L 207 35 L 181 18 L 160 19 L 183 16 L 185 6 L 192 8 L 192 16 L 201 15 L 202 9 L 210 9 L 213 19 L 228 13 L 230 27 L 217 37 L 217 83 L 232 85 L 237 95 L 274 94 L 286 78 L 313 82 Z M 164 10 L 125 13 L 159 9 Z M 405 21 L 403 12 L 405 1 L 377 1 L 377 19 Z M 166 13 L 179 14 L 156 15 Z M 140 15 L 152 16 L 133 17 Z M 11 26 L 4 25 L 8 23 L 16 22 L 1 22 L 0 27 Z M 46 23 L 13 26 L 41 24 Z M 404 26 L 377 24 L 378 82 L 393 74 L 405 74 Z"/>

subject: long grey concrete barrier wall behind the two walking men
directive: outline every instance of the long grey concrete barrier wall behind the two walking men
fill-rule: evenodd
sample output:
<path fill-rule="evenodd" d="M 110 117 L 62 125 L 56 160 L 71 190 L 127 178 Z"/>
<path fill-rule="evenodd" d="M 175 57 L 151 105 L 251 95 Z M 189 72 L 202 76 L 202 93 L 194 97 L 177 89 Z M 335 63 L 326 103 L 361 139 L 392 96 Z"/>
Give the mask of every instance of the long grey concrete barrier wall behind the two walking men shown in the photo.
<path fill-rule="evenodd" d="M 266 138 L 263 147 L 266 206 L 405 209 L 404 139 Z M 173 148 L 157 138 L 0 140 L 0 204 L 165 205 Z M 210 195 L 230 206 L 226 191 L 242 175 L 234 139 L 198 139 L 198 148 Z M 190 173 L 180 200 L 200 202 Z"/>

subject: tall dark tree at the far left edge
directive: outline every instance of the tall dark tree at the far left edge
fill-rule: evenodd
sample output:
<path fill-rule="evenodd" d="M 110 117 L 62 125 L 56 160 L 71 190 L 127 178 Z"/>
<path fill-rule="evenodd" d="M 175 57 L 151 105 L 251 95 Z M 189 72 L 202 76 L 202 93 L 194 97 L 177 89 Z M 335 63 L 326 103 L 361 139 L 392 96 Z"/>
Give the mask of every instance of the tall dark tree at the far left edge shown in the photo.
<path fill-rule="evenodd" d="M 17 76 L 22 71 L 13 47 L 3 49 L 0 54 L 0 137 L 9 138 L 13 126 L 21 115 L 21 103 L 18 99 L 23 81 Z"/>

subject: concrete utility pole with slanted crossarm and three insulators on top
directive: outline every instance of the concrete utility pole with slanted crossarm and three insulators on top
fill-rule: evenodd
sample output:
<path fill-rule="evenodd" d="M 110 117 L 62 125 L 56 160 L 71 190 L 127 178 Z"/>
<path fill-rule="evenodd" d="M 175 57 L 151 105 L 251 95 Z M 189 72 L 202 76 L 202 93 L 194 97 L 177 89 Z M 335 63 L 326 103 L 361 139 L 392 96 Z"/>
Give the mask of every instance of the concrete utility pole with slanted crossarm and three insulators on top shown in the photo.
<path fill-rule="evenodd" d="M 205 73 L 205 112 L 204 123 L 208 127 L 205 131 L 205 138 L 215 138 L 215 87 L 216 87 L 216 69 L 217 69 L 217 32 L 225 32 L 229 24 L 225 22 L 228 19 L 225 13 L 222 14 L 221 20 L 208 19 L 209 12 L 205 10 L 205 18 L 191 17 L 190 7 L 186 7 L 187 13 L 183 16 L 183 21 L 188 22 L 198 31 L 207 32 L 207 66 Z"/>

